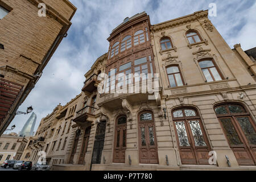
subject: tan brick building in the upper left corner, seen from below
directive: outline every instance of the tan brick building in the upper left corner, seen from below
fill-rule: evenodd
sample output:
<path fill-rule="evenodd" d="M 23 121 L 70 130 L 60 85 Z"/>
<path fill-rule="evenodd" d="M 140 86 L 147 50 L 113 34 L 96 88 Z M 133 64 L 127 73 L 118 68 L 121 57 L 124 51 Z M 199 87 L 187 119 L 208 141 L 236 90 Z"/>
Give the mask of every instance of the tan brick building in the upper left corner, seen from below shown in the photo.
<path fill-rule="evenodd" d="M 42 2 L 46 16 L 38 15 Z M 0 1 L 0 135 L 67 36 L 75 11 L 68 0 Z"/>

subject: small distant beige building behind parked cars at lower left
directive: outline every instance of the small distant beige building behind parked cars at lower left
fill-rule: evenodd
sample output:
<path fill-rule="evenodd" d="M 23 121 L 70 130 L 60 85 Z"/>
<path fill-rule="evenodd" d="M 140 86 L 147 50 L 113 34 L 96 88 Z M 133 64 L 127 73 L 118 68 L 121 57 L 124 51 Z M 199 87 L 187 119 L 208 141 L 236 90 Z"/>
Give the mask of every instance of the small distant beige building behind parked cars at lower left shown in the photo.
<path fill-rule="evenodd" d="M 0 164 L 5 160 L 20 160 L 27 145 L 27 138 L 18 135 L 2 135 L 0 137 Z"/>

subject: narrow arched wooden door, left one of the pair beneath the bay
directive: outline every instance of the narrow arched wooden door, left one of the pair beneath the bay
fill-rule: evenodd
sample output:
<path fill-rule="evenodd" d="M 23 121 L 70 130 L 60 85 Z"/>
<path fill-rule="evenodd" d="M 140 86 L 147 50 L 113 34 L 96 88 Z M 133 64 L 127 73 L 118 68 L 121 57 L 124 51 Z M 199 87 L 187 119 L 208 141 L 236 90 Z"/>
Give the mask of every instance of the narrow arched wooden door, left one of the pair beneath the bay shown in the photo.
<path fill-rule="evenodd" d="M 126 116 L 118 117 L 115 127 L 114 163 L 125 163 L 126 127 Z"/>

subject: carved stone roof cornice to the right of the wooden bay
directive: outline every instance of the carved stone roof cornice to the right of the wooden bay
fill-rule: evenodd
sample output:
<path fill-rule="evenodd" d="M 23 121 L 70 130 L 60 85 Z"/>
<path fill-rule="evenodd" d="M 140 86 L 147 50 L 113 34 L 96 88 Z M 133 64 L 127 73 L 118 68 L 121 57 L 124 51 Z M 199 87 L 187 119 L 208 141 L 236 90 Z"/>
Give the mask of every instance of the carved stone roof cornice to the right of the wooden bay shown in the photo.
<path fill-rule="evenodd" d="M 193 21 L 195 21 L 197 19 L 200 19 L 200 18 L 208 18 L 208 10 L 196 11 L 195 13 L 190 14 L 190 15 L 186 15 L 186 16 L 182 16 L 180 18 L 168 20 L 168 21 L 163 22 L 163 23 L 158 23 L 158 24 L 155 24 L 155 25 L 151 26 L 150 29 L 154 32 L 162 31 L 165 28 L 171 28 L 171 27 L 174 27 L 174 26 L 177 26 L 177 25 L 180 25 L 180 24 L 193 22 Z"/>

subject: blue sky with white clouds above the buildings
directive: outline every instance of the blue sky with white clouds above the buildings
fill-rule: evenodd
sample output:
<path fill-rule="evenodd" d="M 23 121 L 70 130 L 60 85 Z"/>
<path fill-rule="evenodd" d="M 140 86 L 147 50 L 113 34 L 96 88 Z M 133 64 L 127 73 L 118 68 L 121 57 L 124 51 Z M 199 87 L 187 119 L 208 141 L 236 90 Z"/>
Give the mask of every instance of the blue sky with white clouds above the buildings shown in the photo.
<path fill-rule="evenodd" d="M 241 43 L 244 50 L 255 47 L 256 1 L 254 0 L 163 0 L 163 1 L 90 1 L 69 0 L 78 9 L 72 19 L 68 37 L 63 39 L 59 48 L 44 69 L 35 88 L 19 107 L 26 111 L 33 106 L 40 120 L 61 103 L 65 105 L 81 92 L 84 74 L 90 69 L 97 57 L 108 51 L 106 40 L 110 32 L 123 22 L 127 16 L 146 11 L 151 24 L 164 22 L 209 9 L 209 3 L 216 3 L 217 16 L 209 17 L 231 48 Z M 18 133 L 30 115 L 16 115 L 10 126 L 16 125 Z M 10 128 L 9 126 L 9 128 Z"/>

